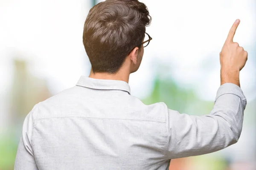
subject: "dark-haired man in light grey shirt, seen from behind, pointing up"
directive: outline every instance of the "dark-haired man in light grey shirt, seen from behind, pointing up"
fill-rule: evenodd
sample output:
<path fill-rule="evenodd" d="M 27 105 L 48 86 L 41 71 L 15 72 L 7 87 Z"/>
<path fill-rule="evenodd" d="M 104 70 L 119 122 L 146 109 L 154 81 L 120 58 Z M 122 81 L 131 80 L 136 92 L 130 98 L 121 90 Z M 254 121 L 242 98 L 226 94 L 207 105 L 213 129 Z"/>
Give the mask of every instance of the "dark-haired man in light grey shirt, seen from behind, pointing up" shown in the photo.
<path fill-rule="evenodd" d="M 40 102 L 26 116 L 16 170 L 166 170 L 170 160 L 224 149 L 238 141 L 246 99 L 239 71 L 247 52 L 233 37 L 220 53 L 221 86 L 208 115 L 190 116 L 165 103 L 130 95 L 151 37 L 145 4 L 106 0 L 85 21 L 83 43 L 92 69 L 75 87 Z"/>

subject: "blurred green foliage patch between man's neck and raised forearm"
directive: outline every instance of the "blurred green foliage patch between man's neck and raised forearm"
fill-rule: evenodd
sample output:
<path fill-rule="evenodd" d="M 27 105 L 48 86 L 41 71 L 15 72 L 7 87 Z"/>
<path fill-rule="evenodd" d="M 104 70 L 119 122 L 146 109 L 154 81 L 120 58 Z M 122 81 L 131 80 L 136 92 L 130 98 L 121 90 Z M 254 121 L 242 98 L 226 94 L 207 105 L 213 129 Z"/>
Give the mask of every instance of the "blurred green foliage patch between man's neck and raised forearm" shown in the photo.
<path fill-rule="evenodd" d="M 156 78 L 152 93 L 142 100 L 146 105 L 156 102 L 165 102 L 169 109 L 193 115 L 209 114 L 214 105 L 212 102 L 198 98 L 193 89 L 180 88 L 170 79 Z"/>

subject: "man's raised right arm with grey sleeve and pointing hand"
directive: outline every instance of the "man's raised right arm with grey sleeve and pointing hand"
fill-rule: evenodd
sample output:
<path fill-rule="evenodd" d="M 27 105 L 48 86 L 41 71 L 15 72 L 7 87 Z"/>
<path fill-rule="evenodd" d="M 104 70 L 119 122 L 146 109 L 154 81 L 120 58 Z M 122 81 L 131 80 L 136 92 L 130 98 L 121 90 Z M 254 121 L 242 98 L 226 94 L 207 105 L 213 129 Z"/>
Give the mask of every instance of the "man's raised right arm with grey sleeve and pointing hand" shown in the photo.
<path fill-rule="evenodd" d="M 246 106 L 239 71 L 247 61 L 247 52 L 233 42 L 239 23 L 233 24 L 220 53 L 221 86 L 211 113 L 191 116 L 168 110 L 168 159 L 212 153 L 238 141 Z"/>

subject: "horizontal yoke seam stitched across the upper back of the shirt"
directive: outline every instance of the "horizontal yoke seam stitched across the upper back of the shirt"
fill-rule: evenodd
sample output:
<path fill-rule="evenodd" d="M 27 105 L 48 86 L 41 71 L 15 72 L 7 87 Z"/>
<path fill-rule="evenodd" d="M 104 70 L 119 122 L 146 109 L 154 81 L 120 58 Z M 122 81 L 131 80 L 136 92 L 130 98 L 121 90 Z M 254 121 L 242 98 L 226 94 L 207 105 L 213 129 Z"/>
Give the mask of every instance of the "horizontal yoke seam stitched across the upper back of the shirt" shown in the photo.
<path fill-rule="evenodd" d="M 74 116 L 74 115 L 65 115 L 65 116 L 49 116 L 49 117 L 42 117 L 37 118 L 35 120 L 42 120 L 42 119 L 51 119 L 51 118 L 70 118 L 70 117 L 78 117 L 78 118 L 87 118 L 87 119 L 114 119 L 114 120 L 131 120 L 131 121 L 144 121 L 144 122 L 159 122 L 159 123 L 166 123 L 163 120 L 150 120 L 150 119 L 116 119 L 116 118 L 100 118 L 100 117 L 88 117 L 88 116 Z"/>

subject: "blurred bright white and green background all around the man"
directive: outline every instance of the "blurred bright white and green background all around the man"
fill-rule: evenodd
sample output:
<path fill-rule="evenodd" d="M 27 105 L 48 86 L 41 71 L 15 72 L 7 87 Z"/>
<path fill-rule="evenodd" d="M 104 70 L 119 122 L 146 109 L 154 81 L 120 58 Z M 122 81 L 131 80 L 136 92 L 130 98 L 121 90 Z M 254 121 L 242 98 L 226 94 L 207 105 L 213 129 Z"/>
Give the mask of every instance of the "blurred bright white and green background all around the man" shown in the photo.
<path fill-rule="evenodd" d="M 256 170 L 256 0 L 141 0 L 152 17 L 131 94 L 145 104 L 208 114 L 220 85 L 219 52 L 233 22 L 248 51 L 240 74 L 247 97 L 239 142 L 204 156 L 175 159 L 170 170 Z M 0 0 L 0 170 L 14 167 L 32 107 L 88 76 L 84 20 L 97 0 Z"/>

